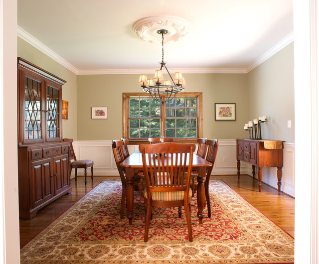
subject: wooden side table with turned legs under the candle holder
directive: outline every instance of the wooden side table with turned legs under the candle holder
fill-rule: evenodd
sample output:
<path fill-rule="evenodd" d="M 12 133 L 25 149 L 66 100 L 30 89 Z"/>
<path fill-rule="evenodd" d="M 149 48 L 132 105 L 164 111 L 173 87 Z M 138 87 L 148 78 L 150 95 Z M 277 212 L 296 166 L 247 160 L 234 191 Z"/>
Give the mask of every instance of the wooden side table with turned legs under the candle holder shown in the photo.
<path fill-rule="evenodd" d="M 253 178 L 255 178 L 255 169 L 258 167 L 258 186 L 259 192 L 261 192 L 263 167 L 277 167 L 277 185 L 280 192 L 281 179 L 282 179 L 282 167 L 284 163 L 283 158 L 283 142 L 281 141 L 278 147 L 265 148 L 264 141 L 277 141 L 279 140 L 266 140 L 266 139 L 236 139 L 237 150 L 237 175 L 240 178 L 240 161 L 244 161 L 252 165 Z"/>

